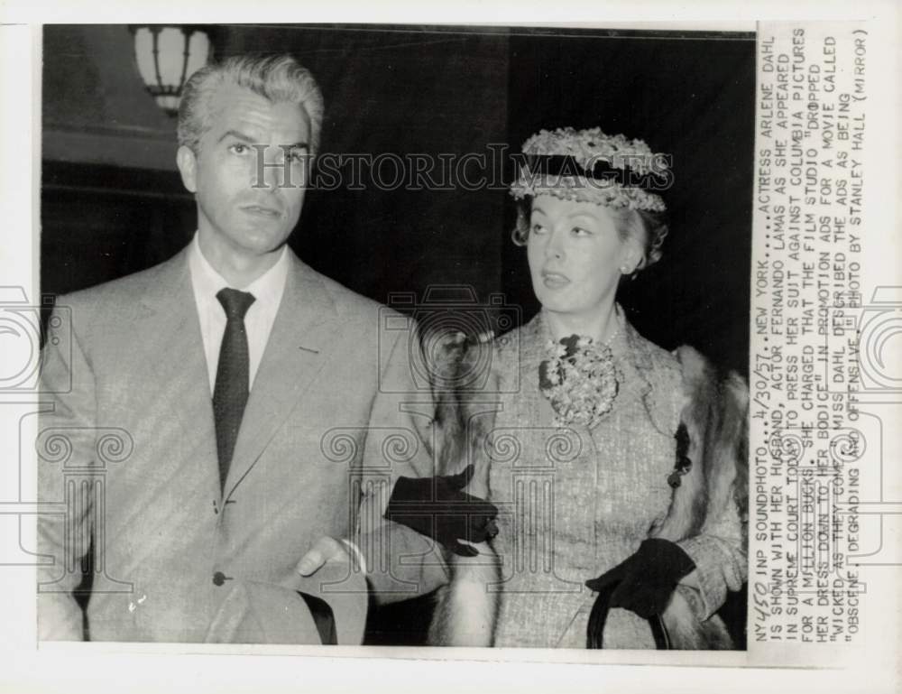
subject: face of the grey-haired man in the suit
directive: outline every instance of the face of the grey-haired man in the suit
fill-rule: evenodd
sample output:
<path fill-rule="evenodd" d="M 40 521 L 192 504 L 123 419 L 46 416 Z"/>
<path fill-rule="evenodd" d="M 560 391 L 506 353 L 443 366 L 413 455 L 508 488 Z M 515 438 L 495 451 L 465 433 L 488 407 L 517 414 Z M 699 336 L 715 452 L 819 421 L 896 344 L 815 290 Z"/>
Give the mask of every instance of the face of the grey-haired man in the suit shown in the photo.
<path fill-rule="evenodd" d="M 198 231 L 226 254 L 272 253 L 288 239 L 304 204 L 307 113 L 297 104 L 274 104 L 250 89 L 226 85 L 212 98 L 210 116 L 199 153 L 183 146 L 178 155 L 182 181 L 198 202 Z M 286 155 L 291 187 L 280 188 Z M 261 169 L 261 158 L 278 166 Z"/>

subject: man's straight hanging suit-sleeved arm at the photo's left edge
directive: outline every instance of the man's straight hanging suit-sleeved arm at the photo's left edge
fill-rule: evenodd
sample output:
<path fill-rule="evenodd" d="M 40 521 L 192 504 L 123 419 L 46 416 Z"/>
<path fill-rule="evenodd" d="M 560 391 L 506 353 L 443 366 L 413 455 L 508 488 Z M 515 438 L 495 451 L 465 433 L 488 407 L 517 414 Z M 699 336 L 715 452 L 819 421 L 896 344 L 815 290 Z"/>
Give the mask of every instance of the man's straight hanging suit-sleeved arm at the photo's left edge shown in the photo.
<path fill-rule="evenodd" d="M 41 390 L 51 408 L 41 413 L 36 442 L 38 464 L 37 538 L 38 636 L 81 640 L 83 615 L 73 590 L 82 578 L 81 559 L 93 533 L 95 465 L 94 375 L 68 310 L 54 311 L 69 329 L 56 331 L 41 356 Z"/>

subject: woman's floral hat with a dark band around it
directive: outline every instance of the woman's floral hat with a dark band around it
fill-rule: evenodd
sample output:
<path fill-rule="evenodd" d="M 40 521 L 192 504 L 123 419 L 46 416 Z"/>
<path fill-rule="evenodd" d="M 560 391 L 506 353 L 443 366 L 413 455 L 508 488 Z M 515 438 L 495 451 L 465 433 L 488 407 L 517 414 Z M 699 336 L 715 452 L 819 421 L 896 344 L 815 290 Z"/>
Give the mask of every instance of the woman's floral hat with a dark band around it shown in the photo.
<path fill-rule="evenodd" d="M 601 128 L 542 130 L 523 143 L 511 195 L 523 199 L 543 193 L 612 208 L 663 212 L 657 194 L 673 180 L 670 157 L 652 153 L 642 140 L 607 135 Z"/>

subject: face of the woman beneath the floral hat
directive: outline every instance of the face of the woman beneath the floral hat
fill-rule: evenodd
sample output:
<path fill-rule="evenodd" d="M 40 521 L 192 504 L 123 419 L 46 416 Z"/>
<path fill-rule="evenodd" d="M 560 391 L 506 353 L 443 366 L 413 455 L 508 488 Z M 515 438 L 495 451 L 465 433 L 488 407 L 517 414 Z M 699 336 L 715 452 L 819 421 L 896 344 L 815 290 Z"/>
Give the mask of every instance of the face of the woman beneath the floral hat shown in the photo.
<path fill-rule="evenodd" d="M 608 208 L 538 195 L 529 215 L 529 272 L 546 310 L 591 320 L 609 309 L 621 267 L 636 268 L 636 239 L 621 239 Z"/>

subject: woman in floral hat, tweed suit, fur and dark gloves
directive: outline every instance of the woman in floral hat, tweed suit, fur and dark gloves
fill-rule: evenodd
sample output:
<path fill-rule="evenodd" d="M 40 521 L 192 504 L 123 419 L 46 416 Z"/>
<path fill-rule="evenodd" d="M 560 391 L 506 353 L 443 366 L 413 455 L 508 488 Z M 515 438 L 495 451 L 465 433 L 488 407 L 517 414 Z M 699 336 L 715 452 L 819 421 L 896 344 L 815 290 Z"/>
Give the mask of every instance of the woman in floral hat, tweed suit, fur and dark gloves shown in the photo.
<path fill-rule="evenodd" d="M 449 348 L 461 374 L 492 365 L 436 426 L 446 474 L 474 463 L 467 491 L 498 507 L 498 533 L 452 558 L 431 643 L 730 648 L 713 613 L 746 578 L 746 389 L 642 338 L 615 301 L 661 254 L 664 160 L 598 129 L 523 152 L 514 239 L 542 309 Z"/>

